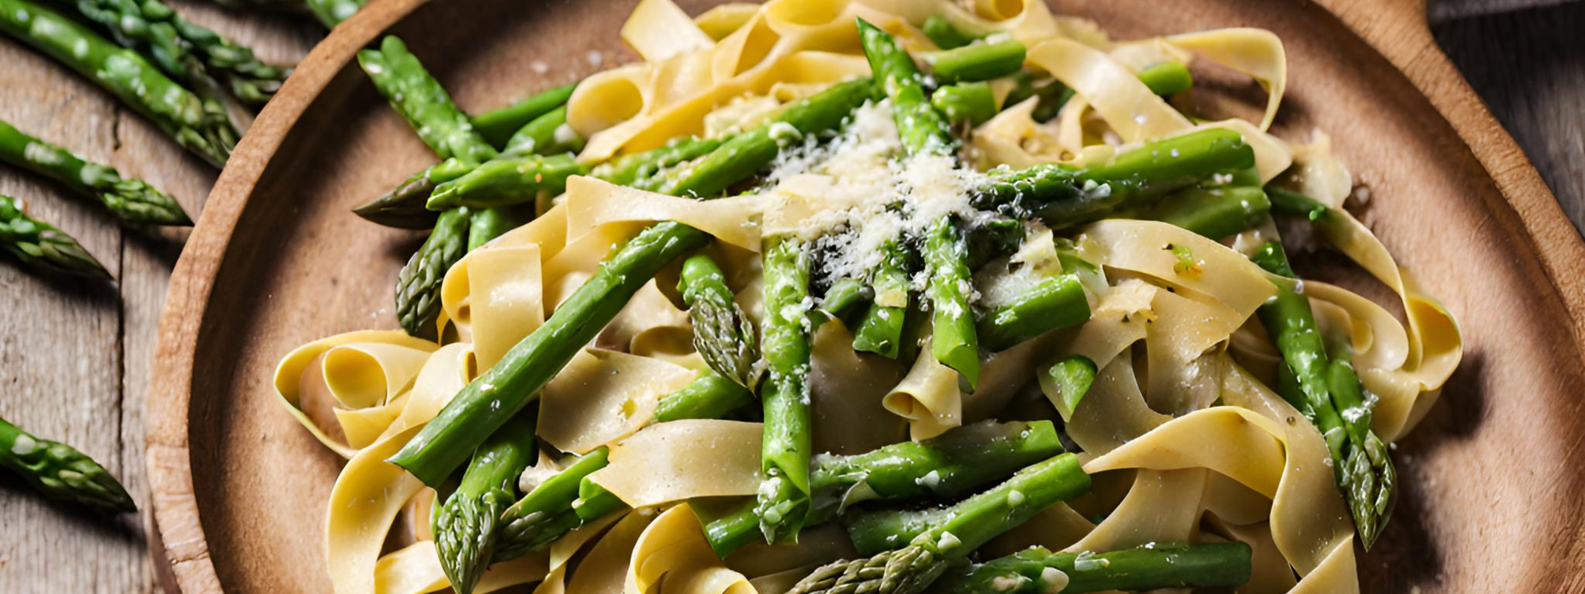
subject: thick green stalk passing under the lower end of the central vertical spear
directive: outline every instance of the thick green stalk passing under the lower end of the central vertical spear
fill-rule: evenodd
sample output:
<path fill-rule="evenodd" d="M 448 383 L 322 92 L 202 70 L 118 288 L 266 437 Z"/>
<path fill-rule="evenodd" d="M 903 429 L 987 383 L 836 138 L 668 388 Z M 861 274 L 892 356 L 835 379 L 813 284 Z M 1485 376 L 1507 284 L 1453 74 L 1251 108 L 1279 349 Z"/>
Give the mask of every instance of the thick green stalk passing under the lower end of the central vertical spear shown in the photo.
<path fill-rule="evenodd" d="M 813 508 L 805 524 L 826 523 L 862 501 L 959 497 L 1059 453 L 1062 442 L 1051 421 L 984 421 L 862 455 L 818 455 L 810 469 Z M 743 508 L 712 521 L 705 537 L 724 558 L 747 545 L 756 527 L 753 508 Z"/>

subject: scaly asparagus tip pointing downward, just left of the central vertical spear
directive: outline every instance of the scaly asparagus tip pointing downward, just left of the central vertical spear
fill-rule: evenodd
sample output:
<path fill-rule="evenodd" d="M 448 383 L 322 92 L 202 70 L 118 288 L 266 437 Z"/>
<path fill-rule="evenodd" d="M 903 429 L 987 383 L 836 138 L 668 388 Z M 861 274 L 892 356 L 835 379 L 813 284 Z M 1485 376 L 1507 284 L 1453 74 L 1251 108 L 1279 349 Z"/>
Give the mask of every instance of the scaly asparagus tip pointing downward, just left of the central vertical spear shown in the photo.
<path fill-rule="evenodd" d="M 708 255 L 683 261 L 677 290 L 688 304 L 694 328 L 694 348 L 716 374 L 753 388 L 758 375 L 759 341 L 753 322 L 726 287 L 726 272 Z"/>

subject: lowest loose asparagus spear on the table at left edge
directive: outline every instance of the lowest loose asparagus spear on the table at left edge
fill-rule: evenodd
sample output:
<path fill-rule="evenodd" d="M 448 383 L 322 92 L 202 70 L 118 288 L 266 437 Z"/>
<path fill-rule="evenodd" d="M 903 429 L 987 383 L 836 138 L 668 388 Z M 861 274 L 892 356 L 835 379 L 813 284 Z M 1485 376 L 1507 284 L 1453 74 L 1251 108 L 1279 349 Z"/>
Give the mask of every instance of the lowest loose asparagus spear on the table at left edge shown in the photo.
<path fill-rule="evenodd" d="M 3 206 L 0 206 L 3 209 Z M 0 466 L 16 470 L 49 499 L 105 512 L 136 512 L 127 489 L 92 458 L 67 444 L 29 436 L 0 418 Z"/>

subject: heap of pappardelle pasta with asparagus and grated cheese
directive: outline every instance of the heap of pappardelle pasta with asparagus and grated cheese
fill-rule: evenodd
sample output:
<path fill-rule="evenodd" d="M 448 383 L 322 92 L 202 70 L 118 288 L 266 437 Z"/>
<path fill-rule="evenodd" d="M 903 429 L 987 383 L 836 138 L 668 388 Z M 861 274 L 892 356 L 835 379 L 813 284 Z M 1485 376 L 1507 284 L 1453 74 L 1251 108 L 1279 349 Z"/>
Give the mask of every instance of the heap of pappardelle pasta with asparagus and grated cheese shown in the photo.
<path fill-rule="evenodd" d="M 1358 591 L 1461 342 L 1327 136 L 1270 131 L 1273 33 L 642 0 L 621 40 L 477 117 L 360 54 L 442 162 L 357 211 L 433 227 L 404 331 L 274 377 L 347 459 L 338 594 Z M 1187 109 L 1200 67 L 1260 116 Z"/>

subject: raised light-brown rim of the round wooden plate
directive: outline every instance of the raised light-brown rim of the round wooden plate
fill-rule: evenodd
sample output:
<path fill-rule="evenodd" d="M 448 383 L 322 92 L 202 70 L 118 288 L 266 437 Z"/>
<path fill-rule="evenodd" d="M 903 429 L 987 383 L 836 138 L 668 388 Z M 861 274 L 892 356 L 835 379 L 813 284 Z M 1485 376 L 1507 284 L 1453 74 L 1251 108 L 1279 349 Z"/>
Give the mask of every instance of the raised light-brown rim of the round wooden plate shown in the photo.
<path fill-rule="evenodd" d="M 376 0 L 336 27 L 298 65 L 263 109 L 216 181 L 203 215 L 171 274 L 160 318 L 147 404 L 146 464 L 155 527 L 151 554 L 170 592 L 223 592 L 198 515 L 189 451 L 195 347 L 212 284 L 247 200 L 298 119 L 331 79 L 376 36 L 430 0 Z M 1496 122 L 1431 38 L 1425 0 L 1319 0 L 1398 67 L 1431 101 L 1496 184 L 1518 225 L 1506 231 L 1539 258 L 1568 309 L 1575 344 L 1585 344 L 1585 241 L 1530 158 Z M 158 553 L 155 553 L 158 550 Z"/>

